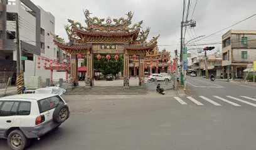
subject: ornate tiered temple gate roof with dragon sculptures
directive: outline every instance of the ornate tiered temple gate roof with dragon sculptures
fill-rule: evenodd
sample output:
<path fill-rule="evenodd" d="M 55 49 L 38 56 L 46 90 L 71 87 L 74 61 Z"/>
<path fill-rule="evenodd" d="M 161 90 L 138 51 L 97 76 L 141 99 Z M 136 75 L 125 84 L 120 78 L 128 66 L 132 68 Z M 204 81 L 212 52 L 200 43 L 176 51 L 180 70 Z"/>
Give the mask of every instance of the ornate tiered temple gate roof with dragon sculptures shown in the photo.
<path fill-rule="evenodd" d="M 65 51 L 68 50 L 68 53 L 73 50 L 91 49 L 92 45 L 88 43 L 125 43 L 125 50 L 146 49 L 147 51 L 152 51 L 157 45 L 159 36 L 152 37 L 151 40 L 146 41 L 150 27 L 143 31 L 141 27 L 143 21 L 131 25 L 132 16 L 134 15 L 131 11 L 125 14 L 126 18 L 120 17 L 119 19 L 111 19 L 110 17 L 100 19 L 91 17 L 91 13 L 88 10 L 83 12 L 87 26 L 83 26 L 80 22 L 75 22 L 71 19 L 68 19 L 70 24 L 65 25 L 69 39 L 68 43 L 53 34 L 55 44 Z"/>

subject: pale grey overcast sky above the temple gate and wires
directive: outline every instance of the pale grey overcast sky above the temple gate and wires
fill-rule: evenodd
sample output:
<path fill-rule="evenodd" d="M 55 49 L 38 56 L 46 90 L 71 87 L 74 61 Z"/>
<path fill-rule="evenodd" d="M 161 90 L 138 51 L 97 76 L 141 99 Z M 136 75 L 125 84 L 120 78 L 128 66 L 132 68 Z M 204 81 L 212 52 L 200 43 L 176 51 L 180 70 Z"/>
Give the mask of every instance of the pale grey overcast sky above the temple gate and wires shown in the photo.
<path fill-rule="evenodd" d="M 181 19 L 183 12 L 182 0 L 31 0 L 36 5 L 41 6 L 45 11 L 51 12 L 55 16 L 55 33 L 67 41 L 64 24 L 68 24 L 67 19 L 81 22 L 85 26 L 83 9 L 92 12 L 91 16 L 100 18 L 126 17 L 125 13 L 133 11 L 132 23 L 143 20 L 142 27 L 151 27 L 152 36 L 161 34 L 158 40 L 159 49 L 166 48 L 173 54 L 174 49 L 179 49 L 179 39 L 181 34 Z M 186 0 L 188 1 L 188 0 Z M 191 19 L 196 0 L 191 0 L 191 8 L 188 19 Z M 194 29 L 187 29 L 186 41 L 196 36 L 208 36 L 213 32 L 224 29 L 235 22 L 241 21 L 256 13 L 256 0 L 198 0 L 192 19 L 196 21 Z M 232 29 L 256 29 L 256 16 L 243 21 Z M 196 42 L 196 44 L 220 43 L 221 35 L 227 32 L 219 32 L 213 36 Z M 190 34 L 190 36 L 189 36 Z M 191 42 L 191 44 L 194 44 Z M 215 46 L 221 51 L 221 44 Z M 204 46 L 193 47 L 198 48 Z M 191 50 L 195 56 L 196 50 Z"/>

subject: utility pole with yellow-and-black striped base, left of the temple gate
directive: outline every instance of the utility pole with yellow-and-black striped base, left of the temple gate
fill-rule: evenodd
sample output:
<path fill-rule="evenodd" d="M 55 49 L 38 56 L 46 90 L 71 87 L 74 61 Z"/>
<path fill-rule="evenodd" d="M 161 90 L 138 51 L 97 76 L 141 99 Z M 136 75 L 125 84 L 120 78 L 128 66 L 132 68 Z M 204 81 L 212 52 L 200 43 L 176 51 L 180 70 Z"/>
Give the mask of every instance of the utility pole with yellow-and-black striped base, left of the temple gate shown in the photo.
<path fill-rule="evenodd" d="M 22 94 L 23 88 L 23 75 L 21 73 L 21 49 L 19 48 L 19 15 L 16 13 L 16 66 L 17 66 L 17 78 L 16 86 L 18 94 Z"/>

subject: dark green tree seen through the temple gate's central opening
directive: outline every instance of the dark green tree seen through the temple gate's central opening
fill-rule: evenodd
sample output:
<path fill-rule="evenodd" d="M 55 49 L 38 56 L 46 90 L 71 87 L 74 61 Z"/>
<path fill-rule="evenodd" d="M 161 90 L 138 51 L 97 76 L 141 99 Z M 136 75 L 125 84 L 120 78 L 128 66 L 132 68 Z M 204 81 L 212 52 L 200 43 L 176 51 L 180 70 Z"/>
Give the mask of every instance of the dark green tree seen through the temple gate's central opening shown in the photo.
<path fill-rule="evenodd" d="M 97 55 L 94 55 L 93 58 L 93 69 L 99 71 L 104 75 L 107 74 L 118 74 L 123 72 L 124 68 L 124 56 L 119 55 L 119 59 L 115 59 L 115 55 L 110 55 L 111 58 L 108 60 L 106 55 L 102 55 L 101 59 L 96 58 Z M 83 64 L 86 64 L 86 59 L 83 60 Z"/>

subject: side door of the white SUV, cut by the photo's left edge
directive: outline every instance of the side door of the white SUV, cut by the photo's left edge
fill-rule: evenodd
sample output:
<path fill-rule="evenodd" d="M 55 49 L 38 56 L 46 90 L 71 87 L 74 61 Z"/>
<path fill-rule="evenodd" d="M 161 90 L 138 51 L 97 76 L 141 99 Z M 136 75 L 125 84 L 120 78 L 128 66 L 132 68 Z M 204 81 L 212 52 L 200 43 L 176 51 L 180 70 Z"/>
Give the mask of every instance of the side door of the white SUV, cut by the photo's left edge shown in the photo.
<path fill-rule="evenodd" d="M 0 135 L 13 125 L 18 106 L 18 101 L 0 101 Z"/>

